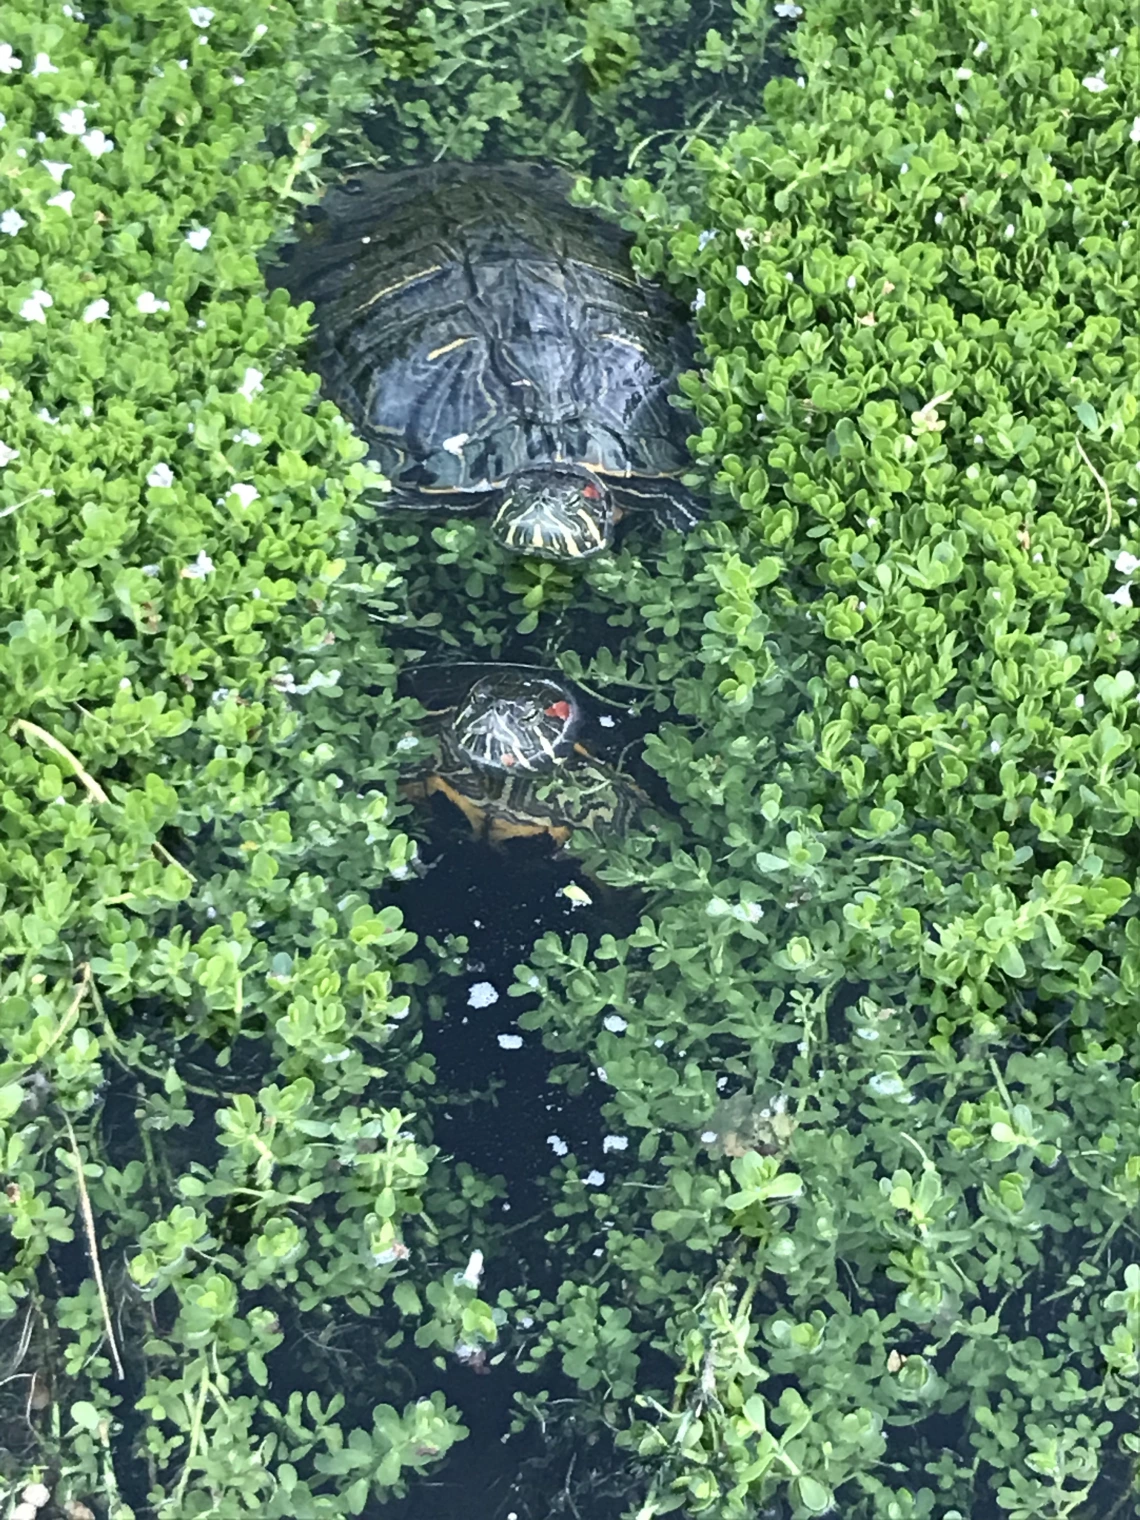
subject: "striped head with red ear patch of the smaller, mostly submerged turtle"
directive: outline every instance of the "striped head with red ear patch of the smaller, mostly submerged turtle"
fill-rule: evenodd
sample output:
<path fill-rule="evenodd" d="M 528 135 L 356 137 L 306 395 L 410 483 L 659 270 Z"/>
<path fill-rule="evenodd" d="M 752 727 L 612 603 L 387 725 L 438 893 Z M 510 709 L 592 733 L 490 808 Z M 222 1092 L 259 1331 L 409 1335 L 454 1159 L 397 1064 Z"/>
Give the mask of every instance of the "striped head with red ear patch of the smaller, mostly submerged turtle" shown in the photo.
<path fill-rule="evenodd" d="M 454 742 L 492 771 L 550 771 L 573 751 L 578 705 L 555 681 L 503 670 L 476 681 L 454 717 Z"/>

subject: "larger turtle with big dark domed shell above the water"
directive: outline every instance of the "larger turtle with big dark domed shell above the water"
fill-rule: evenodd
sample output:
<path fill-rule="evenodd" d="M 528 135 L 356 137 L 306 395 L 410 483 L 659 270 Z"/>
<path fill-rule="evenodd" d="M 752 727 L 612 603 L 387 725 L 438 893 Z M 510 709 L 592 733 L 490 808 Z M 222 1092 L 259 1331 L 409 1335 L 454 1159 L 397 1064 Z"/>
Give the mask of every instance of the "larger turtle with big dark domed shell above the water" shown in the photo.
<path fill-rule="evenodd" d="M 366 172 L 271 283 L 315 304 L 315 366 L 392 508 L 483 512 L 508 549 L 584 559 L 628 512 L 689 527 L 687 313 L 541 164 Z"/>

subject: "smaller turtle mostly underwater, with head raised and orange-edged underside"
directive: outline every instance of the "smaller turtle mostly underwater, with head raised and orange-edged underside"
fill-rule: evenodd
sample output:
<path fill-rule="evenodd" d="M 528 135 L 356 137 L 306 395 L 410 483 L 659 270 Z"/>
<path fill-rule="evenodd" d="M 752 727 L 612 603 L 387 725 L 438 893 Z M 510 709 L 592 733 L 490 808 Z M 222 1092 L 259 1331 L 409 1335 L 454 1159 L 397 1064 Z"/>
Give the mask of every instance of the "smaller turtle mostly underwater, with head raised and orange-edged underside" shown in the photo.
<path fill-rule="evenodd" d="M 439 755 L 401 792 L 412 801 L 441 793 L 491 844 L 549 834 L 561 847 L 575 828 L 620 838 L 649 798 L 590 754 L 581 727 L 581 705 L 559 681 L 491 669 L 458 701 L 427 708 L 424 731 Z"/>

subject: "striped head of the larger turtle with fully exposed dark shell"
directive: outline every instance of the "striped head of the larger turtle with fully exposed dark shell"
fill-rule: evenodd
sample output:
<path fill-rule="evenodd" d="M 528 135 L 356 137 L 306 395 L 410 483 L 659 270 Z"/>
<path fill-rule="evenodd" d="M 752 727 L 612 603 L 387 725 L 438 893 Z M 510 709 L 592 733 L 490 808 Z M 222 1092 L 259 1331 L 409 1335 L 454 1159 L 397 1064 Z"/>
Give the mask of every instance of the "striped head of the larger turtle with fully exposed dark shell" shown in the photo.
<path fill-rule="evenodd" d="M 532 465 L 506 482 L 491 532 L 518 555 L 588 559 L 611 546 L 616 521 L 614 499 L 593 470 Z"/>

